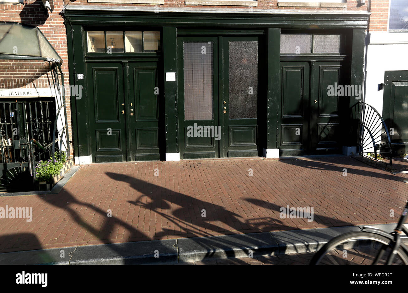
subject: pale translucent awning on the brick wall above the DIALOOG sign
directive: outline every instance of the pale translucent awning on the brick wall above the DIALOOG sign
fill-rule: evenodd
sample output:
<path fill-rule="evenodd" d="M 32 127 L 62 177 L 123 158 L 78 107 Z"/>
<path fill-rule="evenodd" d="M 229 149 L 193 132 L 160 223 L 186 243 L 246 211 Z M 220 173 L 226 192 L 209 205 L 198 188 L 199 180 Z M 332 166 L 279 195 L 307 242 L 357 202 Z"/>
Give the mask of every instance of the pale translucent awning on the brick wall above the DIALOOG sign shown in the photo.
<path fill-rule="evenodd" d="M 62 63 L 60 55 L 38 27 L 16 22 L 0 22 L 0 59 L 37 59 Z"/>

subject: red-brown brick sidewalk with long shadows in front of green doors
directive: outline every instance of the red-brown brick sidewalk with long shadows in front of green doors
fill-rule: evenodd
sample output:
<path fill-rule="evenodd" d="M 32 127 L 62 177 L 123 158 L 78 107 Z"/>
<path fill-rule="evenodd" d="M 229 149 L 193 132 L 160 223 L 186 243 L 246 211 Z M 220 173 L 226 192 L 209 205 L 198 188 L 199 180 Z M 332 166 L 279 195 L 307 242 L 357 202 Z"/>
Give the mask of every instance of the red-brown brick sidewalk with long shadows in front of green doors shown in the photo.
<path fill-rule="evenodd" d="M 1 197 L 33 220 L 0 219 L 0 252 L 394 223 L 406 178 L 349 157 L 91 164 L 57 195 Z M 314 221 L 280 218 L 286 205 L 313 207 Z"/>

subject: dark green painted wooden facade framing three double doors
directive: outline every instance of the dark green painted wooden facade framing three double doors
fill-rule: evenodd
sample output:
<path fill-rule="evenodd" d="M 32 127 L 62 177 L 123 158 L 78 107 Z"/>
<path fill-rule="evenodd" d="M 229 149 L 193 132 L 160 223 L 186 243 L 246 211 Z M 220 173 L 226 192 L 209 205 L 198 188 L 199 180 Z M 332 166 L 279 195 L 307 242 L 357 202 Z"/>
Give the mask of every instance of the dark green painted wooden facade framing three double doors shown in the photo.
<path fill-rule="evenodd" d="M 262 155 L 266 149 L 279 149 L 280 155 L 324 154 L 341 153 L 341 146 L 357 143 L 350 130 L 356 128 L 350 118 L 355 98 L 330 100 L 322 93 L 334 82 L 363 83 L 366 13 L 155 13 L 71 7 L 64 19 L 71 84 L 83 87 L 80 99 L 71 98 L 75 157 L 90 156 L 92 162 L 165 160 L 169 153 L 180 153 L 182 159 L 216 158 Z M 158 52 L 86 52 L 86 31 L 142 30 L 160 31 Z M 281 54 L 281 33 L 293 32 L 340 34 L 342 51 Z M 222 126 L 219 141 L 186 137 L 186 128 L 200 122 L 184 119 L 183 43 L 188 41 L 213 44 L 213 123 Z M 227 117 L 233 91 L 228 84 L 231 42 L 257 42 L 256 119 Z M 169 72 L 175 73 L 175 81 L 166 81 Z M 78 74 L 84 79 L 78 80 Z M 159 94 L 146 90 L 152 87 Z M 111 99 L 101 100 L 95 91 Z M 293 136 L 296 126 L 298 137 Z"/>

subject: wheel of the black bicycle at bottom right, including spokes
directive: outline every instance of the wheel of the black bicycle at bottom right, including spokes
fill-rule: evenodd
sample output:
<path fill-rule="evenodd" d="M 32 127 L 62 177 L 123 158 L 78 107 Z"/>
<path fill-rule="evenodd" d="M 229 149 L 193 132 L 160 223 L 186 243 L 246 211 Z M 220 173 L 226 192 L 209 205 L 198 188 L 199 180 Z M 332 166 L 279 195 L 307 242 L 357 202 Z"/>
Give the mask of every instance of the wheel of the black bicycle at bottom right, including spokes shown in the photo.
<path fill-rule="evenodd" d="M 386 264 L 392 249 L 391 239 L 370 232 L 350 232 L 327 242 L 310 264 Z M 391 264 L 408 264 L 408 253 L 401 244 Z M 380 252 L 383 251 L 382 254 Z"/>

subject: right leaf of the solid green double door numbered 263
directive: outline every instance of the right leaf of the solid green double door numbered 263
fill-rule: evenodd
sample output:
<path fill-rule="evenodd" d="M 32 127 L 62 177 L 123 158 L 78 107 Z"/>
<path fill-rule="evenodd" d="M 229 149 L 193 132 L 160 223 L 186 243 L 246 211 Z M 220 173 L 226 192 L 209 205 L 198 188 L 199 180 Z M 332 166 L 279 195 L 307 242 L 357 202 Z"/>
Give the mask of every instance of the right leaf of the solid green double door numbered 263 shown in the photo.
<path fill-rule="evenodd" d="M 129 120 L 130 160 L 159 160 L 163 125 L 163 95 L 160 92 L 156 62 L 129 62 L 129 98 L 126 116 Z"/>

